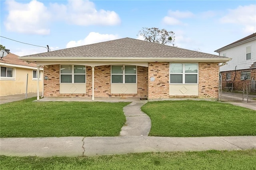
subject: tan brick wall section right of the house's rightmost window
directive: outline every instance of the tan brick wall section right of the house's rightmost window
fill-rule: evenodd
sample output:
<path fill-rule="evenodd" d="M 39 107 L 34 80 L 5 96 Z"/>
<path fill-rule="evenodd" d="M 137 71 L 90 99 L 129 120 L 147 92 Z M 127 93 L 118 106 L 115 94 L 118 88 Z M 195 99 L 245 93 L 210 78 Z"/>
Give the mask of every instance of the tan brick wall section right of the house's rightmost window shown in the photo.
<path fill-rule="evenodd" d="M 199 63 L 198 72 L 199 98 L 218 99 L 218 63 Z"/>

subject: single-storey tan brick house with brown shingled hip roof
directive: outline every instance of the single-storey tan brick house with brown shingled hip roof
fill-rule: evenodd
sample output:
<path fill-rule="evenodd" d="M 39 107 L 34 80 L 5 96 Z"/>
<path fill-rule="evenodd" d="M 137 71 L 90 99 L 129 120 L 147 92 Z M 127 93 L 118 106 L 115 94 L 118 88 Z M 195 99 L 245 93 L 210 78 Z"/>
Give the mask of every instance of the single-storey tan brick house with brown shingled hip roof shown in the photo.
<path fill-rule="evenodd" d="M 20 57 L 44 65 L 44 97 L 218 99 L 228 57 L 122 38 Z M 38 97 L 39 100 L 39 97 Z"/>

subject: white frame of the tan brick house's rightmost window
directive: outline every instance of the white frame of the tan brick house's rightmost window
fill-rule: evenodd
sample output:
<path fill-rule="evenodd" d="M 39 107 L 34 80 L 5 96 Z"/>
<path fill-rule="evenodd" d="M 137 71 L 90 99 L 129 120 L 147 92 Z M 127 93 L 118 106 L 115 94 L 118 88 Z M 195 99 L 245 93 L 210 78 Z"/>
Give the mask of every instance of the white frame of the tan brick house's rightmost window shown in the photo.
<path fill-rule="evenodd" d="M 182 64 L 182 73 L 171 73 L 171 64 Z M 186 64 L 197 64 L 197 73 L 185 73 L 185 65 Z M 169 83 L 170 84 L 186 84 L 186 85 L 196 85 L 198 84 L 198 75 L 199 75 L 199 70 L 198 70 L 199 64 L 198 63 L 169 63 Z M 171 83 L 171 74 L 182 74 L 182 83 Z M 185 76 L 188 74 L 197 74 L 197 83 L 185 83 Z"/>

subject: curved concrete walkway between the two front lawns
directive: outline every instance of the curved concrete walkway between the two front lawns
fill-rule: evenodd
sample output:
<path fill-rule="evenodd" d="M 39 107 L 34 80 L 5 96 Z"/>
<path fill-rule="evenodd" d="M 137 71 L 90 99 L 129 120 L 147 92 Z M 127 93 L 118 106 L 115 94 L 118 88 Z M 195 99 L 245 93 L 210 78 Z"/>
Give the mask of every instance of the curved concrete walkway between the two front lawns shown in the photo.
<path fill-rule="evenodd" d="M 151 120 L 141 111 L 146 102 L 132 102 L 124 107 L 126 123 L 122 127 L 120 136 L 148 136 L 151 129 Z"/>

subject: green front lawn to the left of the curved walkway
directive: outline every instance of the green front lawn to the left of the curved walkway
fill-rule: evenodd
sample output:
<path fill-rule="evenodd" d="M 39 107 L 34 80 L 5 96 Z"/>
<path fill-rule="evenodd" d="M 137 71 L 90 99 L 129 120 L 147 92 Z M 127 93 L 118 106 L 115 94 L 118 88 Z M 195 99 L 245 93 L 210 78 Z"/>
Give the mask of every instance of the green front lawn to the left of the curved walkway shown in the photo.
<path fill-rule="evenodd" d="M 0 105 L 0 137 L 118 136 L 128 103 L 32 102 Z"/>

